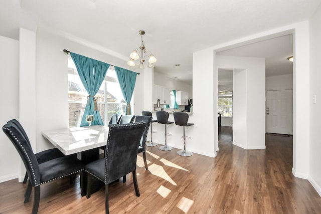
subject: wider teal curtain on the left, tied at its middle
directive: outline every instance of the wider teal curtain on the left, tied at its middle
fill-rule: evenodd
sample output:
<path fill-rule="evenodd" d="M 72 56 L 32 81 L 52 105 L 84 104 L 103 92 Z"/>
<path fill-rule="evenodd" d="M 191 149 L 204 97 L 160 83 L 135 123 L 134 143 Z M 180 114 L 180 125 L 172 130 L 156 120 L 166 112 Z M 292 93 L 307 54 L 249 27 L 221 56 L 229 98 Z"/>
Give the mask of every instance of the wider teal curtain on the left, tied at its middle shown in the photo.
<path fill-rule="evenodd" d="M 80 80 L 89 94 L 89 99 L 80 126 L 88 125 L 88 122 L 86 121 L 87 115 L 94 116 L 94 121 L 91 125 L 103 125 L 104 123 L 97 109 L 95 95 L 106 76 L 109 64 L 71 52 L 70 55 L 76 65 Z"/>

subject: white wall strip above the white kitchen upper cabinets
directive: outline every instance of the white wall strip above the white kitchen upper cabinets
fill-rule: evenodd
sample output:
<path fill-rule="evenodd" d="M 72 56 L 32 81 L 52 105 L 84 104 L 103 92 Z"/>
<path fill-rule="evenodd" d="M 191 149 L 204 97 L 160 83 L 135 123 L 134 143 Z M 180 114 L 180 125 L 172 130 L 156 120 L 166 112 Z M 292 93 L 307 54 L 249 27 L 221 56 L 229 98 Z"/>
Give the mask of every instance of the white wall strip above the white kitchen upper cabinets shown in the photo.
<path fill-rule="evenodd" d="M 189 97 L 193 97 L 193 87 L 191 85 L 180 80 L 169 78 L 158 72 L 154 72 L 154 84 L 164 86 L 171 90 L 185 91 L 189 94 Z"/>

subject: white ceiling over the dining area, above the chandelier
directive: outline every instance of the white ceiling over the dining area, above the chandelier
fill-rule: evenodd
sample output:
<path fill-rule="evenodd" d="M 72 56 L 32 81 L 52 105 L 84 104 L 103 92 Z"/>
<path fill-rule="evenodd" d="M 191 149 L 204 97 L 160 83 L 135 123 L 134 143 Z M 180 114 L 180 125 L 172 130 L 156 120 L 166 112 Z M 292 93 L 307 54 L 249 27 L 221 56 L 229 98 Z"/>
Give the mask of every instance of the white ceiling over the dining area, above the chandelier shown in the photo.
<path fill-rule="evenodd" d="M 193 52 L 308 20 L 320 3 L 321 0 L 0 0 L 0 35 L 18 39 L 19 27 L 32 31 L 50 28 L 128 59 L 140 45 L 138 31 L 144 30 L 146 49 L 157 58 L 155 71 L 191 84 Z M 279 40 L 286 46 L 286 39 Z M 281 49 L 279 44 L 272 47 Z M 246 52 L 251 51 L 254 49 Z"/>

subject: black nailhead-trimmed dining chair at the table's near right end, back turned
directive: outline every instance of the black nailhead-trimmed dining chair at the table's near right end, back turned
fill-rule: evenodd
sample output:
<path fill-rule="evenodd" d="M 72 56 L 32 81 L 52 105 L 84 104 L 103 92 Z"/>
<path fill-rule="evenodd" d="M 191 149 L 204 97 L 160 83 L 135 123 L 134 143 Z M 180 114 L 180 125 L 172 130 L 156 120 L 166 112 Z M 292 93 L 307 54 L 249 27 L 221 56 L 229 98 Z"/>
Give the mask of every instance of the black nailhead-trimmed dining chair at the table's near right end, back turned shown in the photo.
<path fill-rule="evenodd" d="M 136 159 L 140 138 L 147 122 L 110 125 L 106 143 L 105 158 L 85 165 L 87 172 L 87 198 L 90 197 L 94 178 L 105 184 L 105 211 L 109 213 L 108 184 L 132 172 L 136 196 L 140 196 L 137 177 Z"/>

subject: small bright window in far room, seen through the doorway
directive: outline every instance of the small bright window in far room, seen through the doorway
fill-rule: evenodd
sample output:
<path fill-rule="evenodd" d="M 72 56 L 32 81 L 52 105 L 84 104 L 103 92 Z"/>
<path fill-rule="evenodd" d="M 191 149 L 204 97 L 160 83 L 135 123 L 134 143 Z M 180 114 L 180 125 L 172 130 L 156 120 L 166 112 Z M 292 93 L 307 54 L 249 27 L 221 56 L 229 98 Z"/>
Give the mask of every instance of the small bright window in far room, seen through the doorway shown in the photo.
<path fill-rule="evenodd" d="M 219 91 L 218 92 L 218 112 L 222 116 L 232 117 L 232 91 Z"/>

